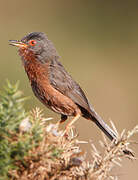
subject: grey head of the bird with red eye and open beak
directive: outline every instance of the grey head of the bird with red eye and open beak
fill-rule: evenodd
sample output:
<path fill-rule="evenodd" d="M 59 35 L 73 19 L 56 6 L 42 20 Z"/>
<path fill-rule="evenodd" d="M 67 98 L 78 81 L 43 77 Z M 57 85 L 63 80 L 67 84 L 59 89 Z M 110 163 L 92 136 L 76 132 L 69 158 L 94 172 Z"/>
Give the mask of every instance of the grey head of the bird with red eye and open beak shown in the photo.
<path fill-rule="evenodd" d="M 10 43 L 19 47 L 20 55 L 24 60 L 33 55 L 38 61 L 45 63 L 47 60 L 58 57 L 53 43 L 42 32 L 29 33 L 21 41 L 10 41 Z"/>

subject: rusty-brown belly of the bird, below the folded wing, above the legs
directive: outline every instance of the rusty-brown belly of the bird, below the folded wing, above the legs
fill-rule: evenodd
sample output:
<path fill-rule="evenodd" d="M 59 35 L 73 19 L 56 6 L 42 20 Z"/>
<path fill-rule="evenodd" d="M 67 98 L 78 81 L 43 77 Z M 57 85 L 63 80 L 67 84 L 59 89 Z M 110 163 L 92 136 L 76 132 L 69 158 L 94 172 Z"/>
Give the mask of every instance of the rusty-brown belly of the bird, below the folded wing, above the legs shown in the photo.
<path fill-rule="evenodd" d="M 32 81 L 32 90 L 35 96 L 48 108 L 54 112 L 67 116 L 80 114 L 79 107 L 67 96 L 54 89 L 50 84 Z"/>

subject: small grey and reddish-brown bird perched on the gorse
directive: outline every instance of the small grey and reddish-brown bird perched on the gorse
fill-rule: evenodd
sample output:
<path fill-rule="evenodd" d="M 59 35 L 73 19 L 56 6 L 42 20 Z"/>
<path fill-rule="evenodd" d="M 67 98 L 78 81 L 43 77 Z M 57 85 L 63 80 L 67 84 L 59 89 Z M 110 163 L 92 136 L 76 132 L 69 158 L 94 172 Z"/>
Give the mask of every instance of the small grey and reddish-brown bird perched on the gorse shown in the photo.
<path fill-rule="evenodd" d="M 79 84 L 62 66 L 53 43 L 45 33 L 29 33 L 21 41 L 10 40 L 10 45 L 19 48 L 35 96 L 61 115 L 60 122 L 73 116 L 66 130 L 82 116 L 94 122 L 110 140 L 116 139 L 116 133 L 95 112 Z"/>

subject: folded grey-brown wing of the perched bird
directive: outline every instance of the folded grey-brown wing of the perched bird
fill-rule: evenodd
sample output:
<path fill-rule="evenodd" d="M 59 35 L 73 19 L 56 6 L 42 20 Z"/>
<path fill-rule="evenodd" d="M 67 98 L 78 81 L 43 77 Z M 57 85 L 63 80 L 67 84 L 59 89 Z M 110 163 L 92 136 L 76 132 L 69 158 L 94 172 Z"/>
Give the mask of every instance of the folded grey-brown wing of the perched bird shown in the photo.
<path fill-rule="evenodd" d="M 50 84 L 77 105 L 90 112 L 90 105 L 84 92 L 58 60 L 51 61 L 49 71 Z"/>

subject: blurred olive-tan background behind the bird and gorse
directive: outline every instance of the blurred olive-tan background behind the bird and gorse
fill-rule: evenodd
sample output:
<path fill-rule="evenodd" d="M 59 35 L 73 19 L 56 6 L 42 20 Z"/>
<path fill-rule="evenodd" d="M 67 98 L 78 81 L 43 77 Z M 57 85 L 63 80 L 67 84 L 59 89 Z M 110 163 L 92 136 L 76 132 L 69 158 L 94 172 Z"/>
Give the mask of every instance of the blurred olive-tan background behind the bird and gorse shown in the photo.
<path fill-rule="evenodd" d="M 8 45 L 9 39 L 42 31 L 108 124 L 112 120 L 121 132 L 138 123 L 138 1 L 1 0 L 0 23 L 0 85 L 6 78 L 20 80 L 24 95 L 31 96 L 27 110 L 39 106 L 46 117 L 59 118 L 34 97 L 17 49 Z M 94 124 L 81 118 L 75 126 L 80 139 L 92 139 L 98 146 L 101 133 Z M 90 152 L 90 145 L 83 148 Z M 138 155 L 138 147 L 134 150 Z M 124 160 L 113 174 L 137 179 L 137 170 L 138 162 Z"/>

